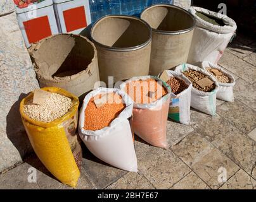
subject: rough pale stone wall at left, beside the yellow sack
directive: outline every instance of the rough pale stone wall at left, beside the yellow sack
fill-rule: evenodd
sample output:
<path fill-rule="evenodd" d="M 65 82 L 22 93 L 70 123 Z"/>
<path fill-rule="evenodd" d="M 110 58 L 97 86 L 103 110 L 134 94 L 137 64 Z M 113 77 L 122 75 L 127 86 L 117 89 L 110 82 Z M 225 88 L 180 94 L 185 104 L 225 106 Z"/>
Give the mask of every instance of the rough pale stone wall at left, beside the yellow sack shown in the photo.
<path fill-rule="evenodd" d="M 20 119 L 20 100 L 38 88 L 12 0 L 0 0 L 0 172 L 32 151 Z"/>

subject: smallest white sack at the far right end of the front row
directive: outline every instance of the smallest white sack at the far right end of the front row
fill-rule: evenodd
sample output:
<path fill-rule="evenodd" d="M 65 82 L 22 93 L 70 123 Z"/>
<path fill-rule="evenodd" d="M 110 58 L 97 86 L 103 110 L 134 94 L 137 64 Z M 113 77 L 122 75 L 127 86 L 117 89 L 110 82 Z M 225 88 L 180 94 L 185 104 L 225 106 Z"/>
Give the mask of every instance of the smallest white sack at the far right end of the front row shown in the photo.
<path fill-rule="evenodd" d="M 226 74 L 227 77 L 229 77 L 231 83 L 219 83 L 219 90 L 217 92 L 217 98 L 227 101 L 227 102 L 234 102 L 234 94 L 233 94 L 233 86 L 236 84 L 236 81 L 234 80 L 234 76 L 232 74 L 227 73 L 224 69 L 222 69 L 217 64 L 212 64 L 212 62 L 209 61 L 203 61 L 202 62 L 202 68 L 214 68 L 219 69 L 222 73 Z"/>

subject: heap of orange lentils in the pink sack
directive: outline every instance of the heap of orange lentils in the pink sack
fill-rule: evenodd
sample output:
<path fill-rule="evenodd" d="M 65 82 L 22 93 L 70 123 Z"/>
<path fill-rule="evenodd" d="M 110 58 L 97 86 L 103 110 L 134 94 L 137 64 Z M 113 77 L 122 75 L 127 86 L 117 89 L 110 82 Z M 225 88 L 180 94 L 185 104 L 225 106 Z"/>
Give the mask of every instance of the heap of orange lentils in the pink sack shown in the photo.
<path fill-rule="evenodd" d="M 124 91 L 136 104 L 155 102 L 167 94 L 167 90 L 152 78 L 148 80 L 130 81 L 125 85 Z"/>

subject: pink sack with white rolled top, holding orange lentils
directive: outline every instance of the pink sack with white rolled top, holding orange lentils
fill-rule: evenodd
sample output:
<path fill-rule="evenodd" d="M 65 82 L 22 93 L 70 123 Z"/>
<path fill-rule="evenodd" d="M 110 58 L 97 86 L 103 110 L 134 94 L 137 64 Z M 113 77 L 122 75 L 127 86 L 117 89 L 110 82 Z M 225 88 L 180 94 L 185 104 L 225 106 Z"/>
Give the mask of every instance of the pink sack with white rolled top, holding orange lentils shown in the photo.
<path fill-rule="evenodd" d="M 165 95 L 161 95 L 157 100 L 149 103 L 139 103 L 134 100 L 134 108 L 132 110 L 131 127 L 135 134 L 142 138 L 150 145 L 167 148 L 167 119 L 170 103 L 170 86 L 157 78 L 157 76 L 139 76 L 133 77 L 120 85 L 120 89 L 126 92 L 125 88 L 132 81 L 146 80 L 161 81 L 166 91 Z M 137 88 L 139 89 L 139 88 Z M 136 93 L 140 93 L 136 89 Z M 158 91 L 158 87 L 157 87 Z M 144 94 L 147 92 L 143 92 Z M 129 93 L 128 93 L 129 94 Z M 143 94 L 143 96 L 144 96 Z M 129 95 L 131 96 L 131 94 Z M 132 97 L 132 96 L 131 96 Z"/>

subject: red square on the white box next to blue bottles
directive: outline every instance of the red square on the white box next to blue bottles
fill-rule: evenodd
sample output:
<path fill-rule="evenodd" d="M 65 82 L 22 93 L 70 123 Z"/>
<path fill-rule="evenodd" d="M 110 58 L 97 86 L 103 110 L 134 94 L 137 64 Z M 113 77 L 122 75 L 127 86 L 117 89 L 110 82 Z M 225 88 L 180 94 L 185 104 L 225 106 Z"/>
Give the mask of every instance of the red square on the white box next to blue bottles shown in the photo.
<path fill-rule="evenodd" d="M 67 32 L 72 32 L 87 26 L 84 6 L 63 11 Z"/>

